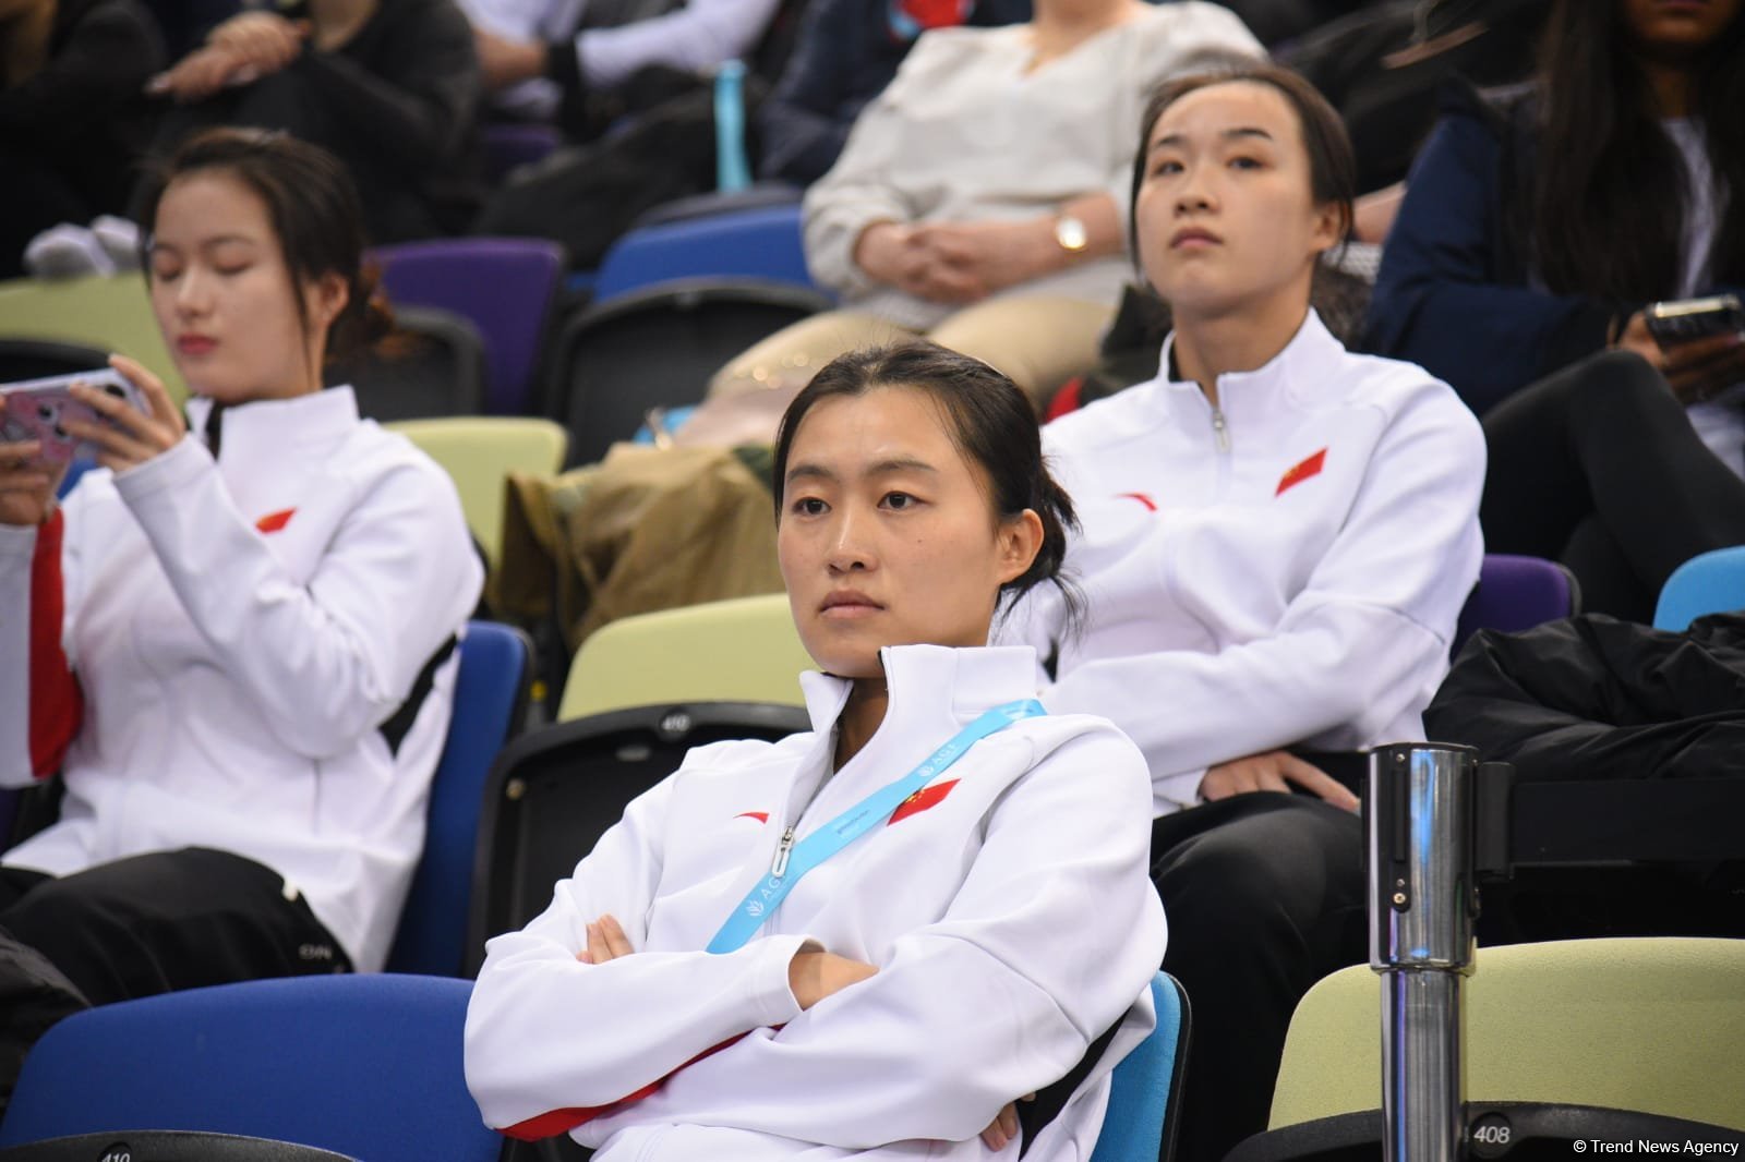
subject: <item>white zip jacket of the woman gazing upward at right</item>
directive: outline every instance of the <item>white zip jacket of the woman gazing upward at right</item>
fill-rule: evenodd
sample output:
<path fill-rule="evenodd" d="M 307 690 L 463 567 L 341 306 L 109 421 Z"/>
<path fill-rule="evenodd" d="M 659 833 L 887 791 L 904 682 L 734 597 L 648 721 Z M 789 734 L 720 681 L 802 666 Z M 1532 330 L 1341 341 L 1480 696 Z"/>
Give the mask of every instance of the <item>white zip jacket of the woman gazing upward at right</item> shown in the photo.
<path fill-rule="evenodd" d="M 1082 635 L 1052 588 L 996 626 L 1057 644 L 1044 705 L 1120 726 L 1157 815 L 1230 759 L 1420 740 L 1483 555 L 1485 440 L 1447 384 L 1347 352 L 1310 311 L 1270 363 L 1218 377 L 1215 412 L 1169 380 L 1171 345 L 1155 380 L 1044 429 L 1084 523 Z"/>

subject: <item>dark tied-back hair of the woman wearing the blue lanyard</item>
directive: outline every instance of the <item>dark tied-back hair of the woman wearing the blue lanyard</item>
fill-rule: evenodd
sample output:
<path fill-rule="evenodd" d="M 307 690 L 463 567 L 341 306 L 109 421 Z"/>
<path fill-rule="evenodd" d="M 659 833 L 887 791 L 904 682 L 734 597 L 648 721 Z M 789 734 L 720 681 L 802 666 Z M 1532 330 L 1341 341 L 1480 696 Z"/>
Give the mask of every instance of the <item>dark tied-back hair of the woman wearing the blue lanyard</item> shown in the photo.
<path fill-rule="evenodd" d="M 1023 576 L 1000 586 L 1000 598 L 1019 597 L 1052 581 L 1066 598 L 1068 623 L 1075 623 L 1082 600 L 1063 576 L 1066 530 L 1078 529 L 1073 501 L 1042 461 L 1042 431 L 1037 412 L 1017 384 L 981 359 L 914 340 L 892 347 L 850 351 L 825 363 L 782 414 L 775 438 L 775 516 L 782 520 L 787 457 L 794 433 L 820 400 L 864 396 L 874 387 L 913 387 L 927 393 L 949 419 L 951 441 L 981 466 L 993 490 L 989 497 L 1000 520 L 1026 508 L 1042 518 L 1042 548 Z"/>

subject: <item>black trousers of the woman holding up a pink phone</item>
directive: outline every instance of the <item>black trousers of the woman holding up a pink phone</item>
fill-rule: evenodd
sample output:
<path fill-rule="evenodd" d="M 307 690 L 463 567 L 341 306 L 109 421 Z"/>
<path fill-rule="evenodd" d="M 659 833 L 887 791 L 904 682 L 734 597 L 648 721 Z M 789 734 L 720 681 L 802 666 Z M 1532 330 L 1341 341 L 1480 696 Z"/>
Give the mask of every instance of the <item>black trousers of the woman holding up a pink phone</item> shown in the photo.
<path fill-rule="evenodd" d="M 351 972 L 300 893 L 255 860 L 181 848 L 52 878 L 0 869 L 0 930 L 92 1005 L 206 984 Z"/>

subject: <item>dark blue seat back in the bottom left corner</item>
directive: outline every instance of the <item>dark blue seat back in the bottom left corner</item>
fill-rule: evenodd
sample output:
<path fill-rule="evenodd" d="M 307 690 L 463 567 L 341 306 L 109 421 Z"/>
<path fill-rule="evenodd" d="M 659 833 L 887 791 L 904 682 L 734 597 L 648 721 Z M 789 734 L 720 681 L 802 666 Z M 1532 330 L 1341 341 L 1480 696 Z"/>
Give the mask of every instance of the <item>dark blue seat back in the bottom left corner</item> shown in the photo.
<path fill-rule="evenodd" d="M 0 1146 L 105 1131 L 244 1134 L 368 1162 L 496 1162 L 461 1071 L 471 984 L 290 977 L 99 1005 L 51 1028 Z"/>

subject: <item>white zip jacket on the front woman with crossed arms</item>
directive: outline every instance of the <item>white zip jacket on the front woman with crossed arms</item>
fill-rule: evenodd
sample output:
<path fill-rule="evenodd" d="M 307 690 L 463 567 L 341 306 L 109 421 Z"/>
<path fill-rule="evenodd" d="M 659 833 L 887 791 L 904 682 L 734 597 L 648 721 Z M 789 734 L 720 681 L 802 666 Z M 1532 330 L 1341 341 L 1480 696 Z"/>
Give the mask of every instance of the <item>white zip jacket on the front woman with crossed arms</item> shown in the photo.
<path fill-rule="evenodd" d="M 742 949 L 700 951 L 790 820 L 803 841 L 1035 687 L 1028 649 L 883 658 L 890 710 L 834 776 L 848 682 L 806 673 L 811 733 L 693 750 L 544 914 L 490 940 L 466 1019 L 489 1124 L 541 1136 L 611 1106 L 574 1131 L 604 1146 L 599 1162 L 986 1159 L 977 1134 L 998 1110 L 1122 1021 L 1026 1157 L 1091 1155 L 1108 1070 L 1153 1024 L 1146 982 L 1164 953 L 1150 782 L 1106 721 L 1047 715 L 984 738 L 804 876 Z M 579 963 L 583 926 L 606 913 L 635 953 Z M 811 942 L 879 972 L 801 1012 L 787 968 Z"/>

